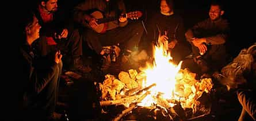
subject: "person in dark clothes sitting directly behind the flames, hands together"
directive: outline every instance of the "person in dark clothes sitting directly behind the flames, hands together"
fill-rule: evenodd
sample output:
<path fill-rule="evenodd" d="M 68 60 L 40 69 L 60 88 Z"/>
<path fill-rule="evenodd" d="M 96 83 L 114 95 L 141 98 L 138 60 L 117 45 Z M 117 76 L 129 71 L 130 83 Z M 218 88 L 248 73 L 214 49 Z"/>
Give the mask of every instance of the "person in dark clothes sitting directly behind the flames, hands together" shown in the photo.
<path fill-rule="evenodd" d="M 167 50 L 175 64 L 184 59 L 190 53 L 189 43 L 185 40 L 185 28 L 183 19 L 174 11 L 173 0 L 161 0 L 160 11 L 152 15 L 148 22 L 147 41 L 167 41 Z M 148 42 L 152 43 L 152 42 Z"/>

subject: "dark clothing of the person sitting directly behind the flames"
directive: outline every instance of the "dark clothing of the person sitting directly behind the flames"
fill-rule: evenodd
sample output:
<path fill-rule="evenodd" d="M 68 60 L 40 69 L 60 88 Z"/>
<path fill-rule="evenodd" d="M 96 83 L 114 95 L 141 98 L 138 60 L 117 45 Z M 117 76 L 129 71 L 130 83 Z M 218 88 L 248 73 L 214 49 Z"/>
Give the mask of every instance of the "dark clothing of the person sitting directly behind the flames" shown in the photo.
<path fill-rule="evenodd" d="M 177 44 L 171 49 L 171 57 L 173 57 L 174 63 L 178 64 L 179 61 L 190 53 L 189 43 L 185 41 L 184 22 L 179 14 L 163 15 L 158 11 L 149 19 L 147 30 L 148 44 L 158 41 L 159 36 L 165 35 L 165 31 L 167 32 L 169 42 L 177 40 Z M 152 54 L 152 51 L 149 50 L 148 53 Z"/>

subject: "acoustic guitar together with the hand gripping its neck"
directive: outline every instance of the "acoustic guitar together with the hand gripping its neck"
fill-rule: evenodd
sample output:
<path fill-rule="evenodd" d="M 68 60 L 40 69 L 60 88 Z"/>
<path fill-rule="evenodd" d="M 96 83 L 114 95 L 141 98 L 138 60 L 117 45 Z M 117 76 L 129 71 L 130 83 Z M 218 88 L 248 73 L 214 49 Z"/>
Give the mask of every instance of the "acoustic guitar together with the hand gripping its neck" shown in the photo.
<path fill-rule="evenodd" d="M 105 33 L 108 27 L 108 22 L 116 21 L 119 19 L 120 22 L 125 22 L 127 19 L 139 19 L 142 17 L 141 11 L 132 11 L 127 14 L 122 14 L 120 17 L 104 17 L 101 11 L 94 11 L 90 14 L 91 19 L 89 21 L 90 28 L 97 33 Z"/>

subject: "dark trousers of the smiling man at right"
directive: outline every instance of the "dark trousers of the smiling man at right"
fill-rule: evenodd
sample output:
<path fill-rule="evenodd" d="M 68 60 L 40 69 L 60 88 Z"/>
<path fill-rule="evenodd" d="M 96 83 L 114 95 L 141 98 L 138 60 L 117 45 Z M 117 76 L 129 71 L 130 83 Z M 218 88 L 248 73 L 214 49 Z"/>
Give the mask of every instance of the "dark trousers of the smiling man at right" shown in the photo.
<path fill-rule="evenodd" d="M 200 56 L 199 49 L 193 44 L 192 52 L 194 57 Z M 215 71 L 227 64 L 227 57 L 225 45 L 209 45 L 207 46 L 207 52 L 202 56 L 208 66 Z"/>

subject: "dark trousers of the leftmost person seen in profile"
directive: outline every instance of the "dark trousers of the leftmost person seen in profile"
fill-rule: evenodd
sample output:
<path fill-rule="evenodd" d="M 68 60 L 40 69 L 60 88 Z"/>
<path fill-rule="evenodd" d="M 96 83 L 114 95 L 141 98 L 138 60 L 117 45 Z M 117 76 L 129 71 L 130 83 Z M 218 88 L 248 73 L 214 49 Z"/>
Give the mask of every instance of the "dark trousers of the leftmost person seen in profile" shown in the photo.
<path fill-rule="evenodd" d="M 48 84 L 39 93 L 28 94 L 28 108 L 24 113 L 27 120 L 47 120 L 55 111 L 59 93 L 59 81 L 63 64 L 60 63 L 54 69 L 55 75 L 51 77 Z M 44 73 L 38 75 L 38 83 L 43 80 Z"/>

